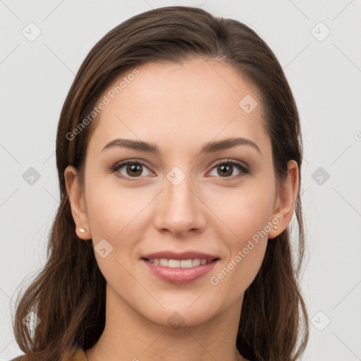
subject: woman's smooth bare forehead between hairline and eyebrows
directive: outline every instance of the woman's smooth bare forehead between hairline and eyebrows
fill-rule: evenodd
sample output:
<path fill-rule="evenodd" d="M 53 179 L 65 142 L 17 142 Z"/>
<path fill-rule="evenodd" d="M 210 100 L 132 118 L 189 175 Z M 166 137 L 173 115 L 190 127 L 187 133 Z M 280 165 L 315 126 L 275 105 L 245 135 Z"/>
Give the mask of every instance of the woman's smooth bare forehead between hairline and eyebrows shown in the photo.
<path fill-rule="evenodd" d="M 94 120 L 95 147 L 117 136 L 190 145 L 239 135 L 267 145 L 260 94 L 229 64 L 191 59 L 135 69 L 102 94 L 109 104 Z"/>

